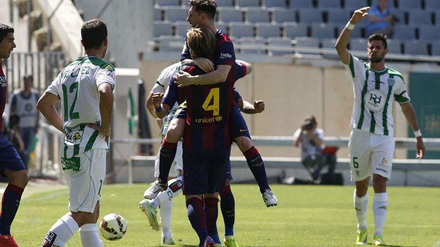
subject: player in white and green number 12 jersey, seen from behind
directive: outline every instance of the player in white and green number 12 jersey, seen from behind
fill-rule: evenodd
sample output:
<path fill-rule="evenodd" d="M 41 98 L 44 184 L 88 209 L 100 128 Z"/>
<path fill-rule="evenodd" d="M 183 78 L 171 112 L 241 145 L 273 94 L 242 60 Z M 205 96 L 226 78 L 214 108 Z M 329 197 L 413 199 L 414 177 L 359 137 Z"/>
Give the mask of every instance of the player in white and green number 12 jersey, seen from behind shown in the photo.
<path fill-rule="evenodd" d="M 37 109 L 64 134 L 61 166 L 69 187 L 69 212 L 48 231 L 41 247 L 63 247 L 79 228 L 83 247 L 102 247 L 96 221 L 105 177 L 105 152 L 113 109 L 114 68 L 102 61 L 107 26 L 101 19 L 81 27 L 85 55 L 65 67 Z M 61 101 L 61 116 L 54 104 Z"/>

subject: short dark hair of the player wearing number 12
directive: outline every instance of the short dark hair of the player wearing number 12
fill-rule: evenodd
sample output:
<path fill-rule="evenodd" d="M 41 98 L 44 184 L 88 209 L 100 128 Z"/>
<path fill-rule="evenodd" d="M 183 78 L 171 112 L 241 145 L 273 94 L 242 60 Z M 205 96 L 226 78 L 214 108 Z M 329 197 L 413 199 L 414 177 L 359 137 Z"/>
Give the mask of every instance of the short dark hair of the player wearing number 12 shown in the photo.
<path fill-rule="evenodd" d="M 85 49 L 99 49 L 107 37 L 107 24 L 99 18 L 87 20 L 81 26 L 81 38 Z"/>

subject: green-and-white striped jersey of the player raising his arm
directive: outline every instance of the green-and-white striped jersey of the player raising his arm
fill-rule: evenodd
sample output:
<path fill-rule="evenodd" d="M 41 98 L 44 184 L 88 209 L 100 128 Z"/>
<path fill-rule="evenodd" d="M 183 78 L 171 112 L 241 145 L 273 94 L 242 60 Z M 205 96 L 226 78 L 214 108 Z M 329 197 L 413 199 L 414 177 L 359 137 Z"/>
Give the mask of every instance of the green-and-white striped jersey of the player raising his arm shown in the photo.
<path fill-rule="evenodd" d="M 393 135 L 394 100 L 409 102 L 402 75 L 391 68 L 375 71 L 350 54 L 345 65 L 353 77 L 354 104 L 350 126 L 378 135 Z"/>

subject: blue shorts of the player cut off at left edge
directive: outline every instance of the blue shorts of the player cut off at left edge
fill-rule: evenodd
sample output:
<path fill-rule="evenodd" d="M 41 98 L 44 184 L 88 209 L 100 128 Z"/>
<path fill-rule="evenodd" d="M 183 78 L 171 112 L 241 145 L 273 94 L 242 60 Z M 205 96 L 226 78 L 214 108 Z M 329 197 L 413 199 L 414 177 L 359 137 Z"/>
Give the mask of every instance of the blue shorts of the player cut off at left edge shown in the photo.
<path fill-rule="evenodd" d="M 3 177 L 5 170 L 21 171 L 25 170 L 23 162 L 15 148 L 6 138 L 0 135 L 0 174 Z"/>

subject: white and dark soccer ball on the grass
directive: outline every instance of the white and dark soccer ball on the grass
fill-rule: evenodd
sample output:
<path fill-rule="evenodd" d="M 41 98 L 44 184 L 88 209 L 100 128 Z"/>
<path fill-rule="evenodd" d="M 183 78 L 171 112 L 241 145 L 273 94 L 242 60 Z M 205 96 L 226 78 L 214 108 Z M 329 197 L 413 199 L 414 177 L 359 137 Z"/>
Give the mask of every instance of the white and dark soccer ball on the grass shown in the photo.
<path fill-rule="evenodd" d="M 108 214 L 99 223 L 99 232 L 107 240 L 119 240 L 126 231 L 127 222 L 117 214 Z"/>

